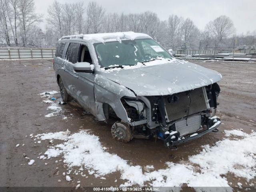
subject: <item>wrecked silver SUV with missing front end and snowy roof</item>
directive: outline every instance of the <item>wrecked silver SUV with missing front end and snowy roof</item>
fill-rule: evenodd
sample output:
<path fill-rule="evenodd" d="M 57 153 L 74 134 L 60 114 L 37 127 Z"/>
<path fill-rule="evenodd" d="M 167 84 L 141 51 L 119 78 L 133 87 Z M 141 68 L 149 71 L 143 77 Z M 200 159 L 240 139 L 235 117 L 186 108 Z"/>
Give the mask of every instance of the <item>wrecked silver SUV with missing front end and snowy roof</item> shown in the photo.
<path fill-rule="evenodd" d="M 118 141 L 154 137 L 171 147 L 218 130 L 221 74 L 175 59 L 146 34 L 62 37 L 54 70 L 64 101 L 100 121 L 116 118 Z"/>

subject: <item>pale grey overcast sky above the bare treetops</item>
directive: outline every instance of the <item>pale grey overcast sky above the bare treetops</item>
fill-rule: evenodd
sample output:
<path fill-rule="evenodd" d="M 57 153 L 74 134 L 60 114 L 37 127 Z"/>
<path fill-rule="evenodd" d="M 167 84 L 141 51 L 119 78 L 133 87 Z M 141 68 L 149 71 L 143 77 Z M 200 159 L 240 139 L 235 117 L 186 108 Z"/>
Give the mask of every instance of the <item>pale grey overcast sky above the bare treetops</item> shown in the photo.
<path fill-rule="evenodd" d="M 60 3 L 81 0 L 58 0 Z M 141 13 L 152 11 L 160 20 L 171 14 L 191 18 L 200 30 L 220 15 L 230 17 L 238 34 L 256 30 L 256 0 L 94 0 L 106 12 Z M 47 8 L 53 0 L 35 0 L 36 12 L 47 16 Z M 84 1 L 85 5 L 88 0 Z M 44 26 L 44 23 L 41 24 Z"/>

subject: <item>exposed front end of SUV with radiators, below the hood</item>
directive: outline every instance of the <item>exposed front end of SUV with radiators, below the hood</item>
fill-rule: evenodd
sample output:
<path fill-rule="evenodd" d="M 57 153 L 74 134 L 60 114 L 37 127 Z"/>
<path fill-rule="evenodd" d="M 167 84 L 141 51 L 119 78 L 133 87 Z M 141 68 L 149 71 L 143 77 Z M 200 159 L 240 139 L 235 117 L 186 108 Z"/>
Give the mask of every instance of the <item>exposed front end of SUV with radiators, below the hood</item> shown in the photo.
<path fill-rule="evenodd" d="M 134 138 L 159 138 L 171 147 L 218 131 L 219 94 L 220 87 L 214 83 L 172 95 L 126 98 L 123 103 Z"/>

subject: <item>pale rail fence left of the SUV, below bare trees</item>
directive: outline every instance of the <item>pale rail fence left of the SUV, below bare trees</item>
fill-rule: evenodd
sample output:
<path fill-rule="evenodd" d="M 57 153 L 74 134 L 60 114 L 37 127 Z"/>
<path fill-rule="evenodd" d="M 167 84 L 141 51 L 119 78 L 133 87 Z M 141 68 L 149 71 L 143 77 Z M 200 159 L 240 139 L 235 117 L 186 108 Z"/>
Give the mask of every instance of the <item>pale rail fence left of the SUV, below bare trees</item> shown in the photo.
<path fill-rule="evenodd" d="M 53 58 L 54 48 L 0 48 L 0 59 Z"/>

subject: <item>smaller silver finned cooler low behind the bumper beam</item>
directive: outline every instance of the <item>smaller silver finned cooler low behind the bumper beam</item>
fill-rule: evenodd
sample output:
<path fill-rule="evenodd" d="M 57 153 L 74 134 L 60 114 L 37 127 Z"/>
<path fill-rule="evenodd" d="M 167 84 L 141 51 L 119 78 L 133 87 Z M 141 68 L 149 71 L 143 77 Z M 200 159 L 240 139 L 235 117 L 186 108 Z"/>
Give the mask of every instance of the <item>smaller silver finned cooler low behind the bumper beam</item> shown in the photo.
<path fill-rule="evenodd" d="M 187 126 L 188 124 L 188 126 Z M 201 126 L 201 116 L 196 115 L 192 117 L 186 118 L 176 121 L 175 122 L 175 128 L 176 131 L 180 132 L 180 136 L 184 136 L 186 134 L 194 133 L 196 132 Z"/>

